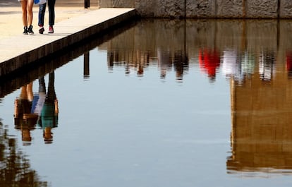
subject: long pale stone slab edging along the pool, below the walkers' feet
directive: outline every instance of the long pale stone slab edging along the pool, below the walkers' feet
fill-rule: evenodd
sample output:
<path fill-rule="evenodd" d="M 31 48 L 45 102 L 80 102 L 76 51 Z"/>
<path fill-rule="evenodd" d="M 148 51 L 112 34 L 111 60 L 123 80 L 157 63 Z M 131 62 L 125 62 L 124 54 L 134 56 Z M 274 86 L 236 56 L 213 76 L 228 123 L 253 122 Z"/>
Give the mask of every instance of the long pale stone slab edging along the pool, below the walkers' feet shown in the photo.
<path fill-rule="evenodd" d="M 133 17 L 133 8 L 100 8 L 55 23 L 54 34 L 44 32 L 40 35 L 35 30 L 35 35 L 21 34 L 2 38 L 0 76 Z"/>

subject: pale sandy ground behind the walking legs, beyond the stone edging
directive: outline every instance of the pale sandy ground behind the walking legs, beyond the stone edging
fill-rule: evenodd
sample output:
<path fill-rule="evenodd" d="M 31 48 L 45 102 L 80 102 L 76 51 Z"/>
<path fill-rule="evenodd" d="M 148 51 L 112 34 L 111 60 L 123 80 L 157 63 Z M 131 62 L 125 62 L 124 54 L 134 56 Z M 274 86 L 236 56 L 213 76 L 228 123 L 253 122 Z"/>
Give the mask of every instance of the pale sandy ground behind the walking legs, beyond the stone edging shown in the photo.
<path fill-rule="evenodd" d="M 87 13 L 88 11 L 97 10 L 98 6 L 95 1 L 90 1 L 90 8 L 84 8 L 84 1 L 71 0 L 68 3 L 68 0 L 56 0 L 55 22 L 57 23 L 61 20 Z M 39 6 L 34 5 L 32 25 L 35 33 L 38 33 L 39 30 L 37 26 L 38 9 Z M 44 18 L 45 32 L 48 30 L 48 25 L 46 25 L 48 23 L 48 16 L 49 11 L 47 10 Z M 13 35 L 22 35 L 22 13 L 20 3 L 17 0 L 0 0 L 0 30 L 0 40 L 6 37 L 13 37 Z M 58 28 L 54 28 L 54 30 L 56 31 Z"/>

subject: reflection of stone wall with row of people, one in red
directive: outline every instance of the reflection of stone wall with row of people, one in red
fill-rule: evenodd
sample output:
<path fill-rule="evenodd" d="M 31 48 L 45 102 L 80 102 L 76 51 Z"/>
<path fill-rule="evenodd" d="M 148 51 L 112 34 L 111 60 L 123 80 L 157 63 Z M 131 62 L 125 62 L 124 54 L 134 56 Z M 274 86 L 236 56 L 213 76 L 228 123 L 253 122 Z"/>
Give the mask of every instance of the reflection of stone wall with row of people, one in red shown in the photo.
<path fill-rule="evenodd" d="M 99 48 L 107 49 L 111 71 L 122 67 L 126 74 L 142 76 L 145 68 L 158 66 L 161 78 L 175 71 L 182 80 L 199 64 L 210 82 L 222 68 L 241 83 L 258 64 L 262 80 L 270 80 L 275 53 L 292 48 L 291 28 L 291 20 L 143 19 Z"/>

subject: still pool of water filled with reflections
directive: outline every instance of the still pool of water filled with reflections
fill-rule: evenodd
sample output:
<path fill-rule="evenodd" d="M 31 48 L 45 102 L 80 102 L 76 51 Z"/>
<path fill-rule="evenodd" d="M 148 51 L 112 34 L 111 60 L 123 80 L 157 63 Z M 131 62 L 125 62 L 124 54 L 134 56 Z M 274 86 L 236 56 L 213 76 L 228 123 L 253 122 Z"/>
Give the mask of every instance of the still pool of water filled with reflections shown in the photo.
<path fill-rule="evenodd" d="M 0 186 L 288 186 L 290 20 L 140 20 L 1 81 Z"/>

